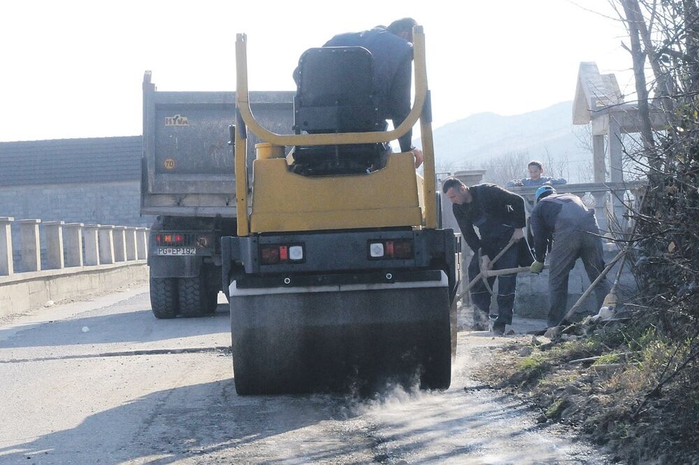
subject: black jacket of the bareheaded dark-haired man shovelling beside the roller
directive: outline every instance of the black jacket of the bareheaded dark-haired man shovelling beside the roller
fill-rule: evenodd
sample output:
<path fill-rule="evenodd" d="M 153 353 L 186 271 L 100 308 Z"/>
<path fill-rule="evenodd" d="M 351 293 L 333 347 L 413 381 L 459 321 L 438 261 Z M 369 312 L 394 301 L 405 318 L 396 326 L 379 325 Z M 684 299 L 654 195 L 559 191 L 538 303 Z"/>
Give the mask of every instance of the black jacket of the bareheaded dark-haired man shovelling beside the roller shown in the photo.
<path fill-rule="evenodd" d="M 476 184 L 468 188 L 473 200 L 452 204 L 461 235 L 474 253 L 495 257 L 512 237 L 515 228 L 526 226 L 524 199 L 495 184 Z M 474 226 L 478 227 L 480 237 Z"/>

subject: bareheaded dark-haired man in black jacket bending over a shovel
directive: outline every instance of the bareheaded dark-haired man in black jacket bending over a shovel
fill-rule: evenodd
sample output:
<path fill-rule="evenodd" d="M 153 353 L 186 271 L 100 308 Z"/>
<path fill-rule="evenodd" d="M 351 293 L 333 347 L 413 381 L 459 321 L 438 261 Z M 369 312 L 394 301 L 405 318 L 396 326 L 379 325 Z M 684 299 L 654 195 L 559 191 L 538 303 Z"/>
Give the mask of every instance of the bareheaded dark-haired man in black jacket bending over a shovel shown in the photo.
<path fill-rule="evenodd" d="M 524 199 L 495 184 L 468 187 L 455 178 L 447 179 L 442 184 L 442 191 L 451 200 L 461 235 L 473 250 L 473 259 L 468 265 L 468 279 L 472 281 L 481 270 L 489 268 L 490 261 L 510 240 L 521 241 L 524 237 Z M 478 233 L 475 228 L 478 228 Z M 493 270 L 517 267 L 518 249 L 517 246 L 510 247 L 493 265 Z M 492 288 L 495 277 L 489 278 L 488 283 Z M 512 324 L 516 288 L 517 274 L 498 276 L 498 318 L 493 322 L 494 334 L 504 334 L 505 325 Z M 483 282 L 471 288 L 471 299 L 488 317 L 491 295 Z"/>

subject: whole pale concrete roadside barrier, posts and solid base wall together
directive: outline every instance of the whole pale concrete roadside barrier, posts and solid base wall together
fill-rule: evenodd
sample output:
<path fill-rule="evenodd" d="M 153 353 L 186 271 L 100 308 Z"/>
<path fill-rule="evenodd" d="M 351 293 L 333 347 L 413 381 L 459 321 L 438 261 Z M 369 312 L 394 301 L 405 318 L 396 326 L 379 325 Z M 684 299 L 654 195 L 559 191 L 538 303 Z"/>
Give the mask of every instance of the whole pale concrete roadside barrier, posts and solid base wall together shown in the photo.
<path fill-rule="evenodd" d="M 13 224 L 20 228 L 19 272 L 13 263 Z M 40 226 L 45 240 L 45 270 L 41 267 Z M 64 221 L 42 223 L 40 219 L 15 221 L 0 216 L 0 316 L 147 279 L 148 231 Z"/>

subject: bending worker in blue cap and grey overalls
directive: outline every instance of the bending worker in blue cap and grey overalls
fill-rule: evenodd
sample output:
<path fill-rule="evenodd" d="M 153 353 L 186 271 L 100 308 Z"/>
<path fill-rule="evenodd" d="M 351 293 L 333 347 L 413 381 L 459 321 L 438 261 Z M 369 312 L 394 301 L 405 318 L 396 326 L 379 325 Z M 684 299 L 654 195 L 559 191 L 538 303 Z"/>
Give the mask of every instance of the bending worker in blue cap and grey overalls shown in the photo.
<path fill-rule="evenodd" d="M 553 240 L 549 254 L 549 327 L 561 324 L 568 303 L 568 274 L 575 260 L 582 258 L 590 282 L 604 270 L 600 230 L 595 211 L 585 207 L 577 195 L 556 193 L 551 186 L 541 186 L 535 193 L 536 205 L 531 212 L 535 262 L 531 271 L 544 267 L 547 245 Z M 606 278 L 595 288 L 597 307 L 602 307 L 610 285 Z"/>

